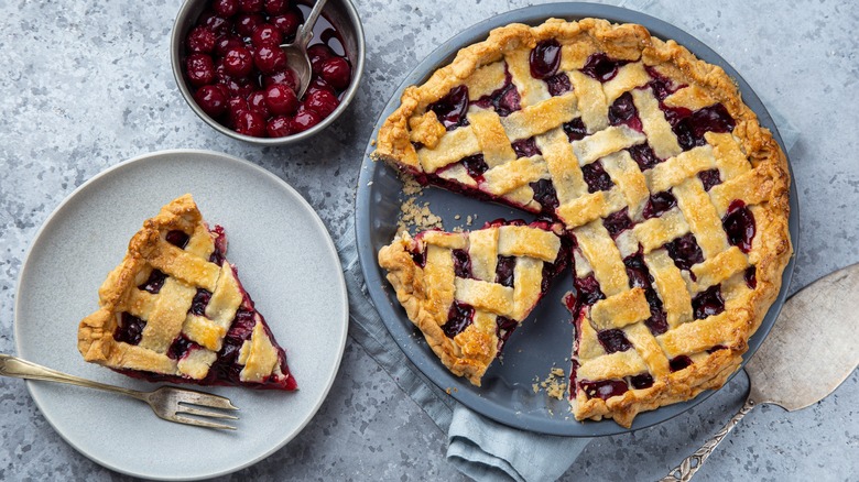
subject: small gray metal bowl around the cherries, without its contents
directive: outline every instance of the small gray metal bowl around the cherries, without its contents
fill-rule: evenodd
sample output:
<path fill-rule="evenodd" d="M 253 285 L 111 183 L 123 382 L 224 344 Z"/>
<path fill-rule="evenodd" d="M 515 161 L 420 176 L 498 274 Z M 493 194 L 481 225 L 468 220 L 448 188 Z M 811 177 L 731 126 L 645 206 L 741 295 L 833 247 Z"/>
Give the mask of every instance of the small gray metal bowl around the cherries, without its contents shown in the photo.
<path fill-rule="evenodd" d="M 349 106 L 356 92 L 358 86 L 361 83 L 361 76 L 363 74 L 363 57 L 365 57 L 365 42 L 363 42 L 363 28 L 361 26 L 361 19 L 358 17 L 358 10 L 350 0 L 329 0 L 323 9 L 323 15 L 334 24 L 342 36 L 344 47 L 346 48 L 346 55 L 349 58 L 352 67 L 352 79 L 349 87 L 344 91 L 340 98 L 340 105 L 337 109 L 330 113 L 330 116 L 323 119 L 322 122 L 313 128 L 298 132 L 297 134 L 287 135 L 284 138 L 253 138 L 250 135 L 240 134 L 226 125 L 222 125 L 217 120 L 209 117 L 203 109 L 197 106 L 194 100 L 194 94 L 188 86 L 184 75 L 184 61 L 185 61 L 185 37 L 191 29 L 197 23 L 197 19 L 200 13 L 211 0 L 187 0 L 182 4 L 182 8 L 176 15 L 176 21 L 173 24 L 173 34 L 170 41 L 170 57 L 173 66 L 173 77 L 176 79 L 176 85 L 182 91 L 182 97 L 188 102 L 191 109 L 199 116 L 207 124 L 221 134 L 228 135 L 232 139 L 249 142 L 257 145 L 286 145 L 293 144 L 305 139 L 308 139 L 316 133 L 323 131 L 325 128 L 331 124 Z"/>

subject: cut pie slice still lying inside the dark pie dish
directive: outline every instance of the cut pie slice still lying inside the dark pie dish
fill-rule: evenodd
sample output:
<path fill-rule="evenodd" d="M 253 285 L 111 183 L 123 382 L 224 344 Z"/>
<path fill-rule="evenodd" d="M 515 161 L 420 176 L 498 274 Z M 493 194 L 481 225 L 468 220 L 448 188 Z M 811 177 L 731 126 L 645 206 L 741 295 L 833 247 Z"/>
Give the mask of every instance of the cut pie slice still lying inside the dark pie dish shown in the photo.
<path fill-rule="evenodd" d="M 493 221 L 470 232 L 407 232 L 379 264 L 409 319 L 454 374 L 475 385 L 567 265 L 556 222 Z"/>

